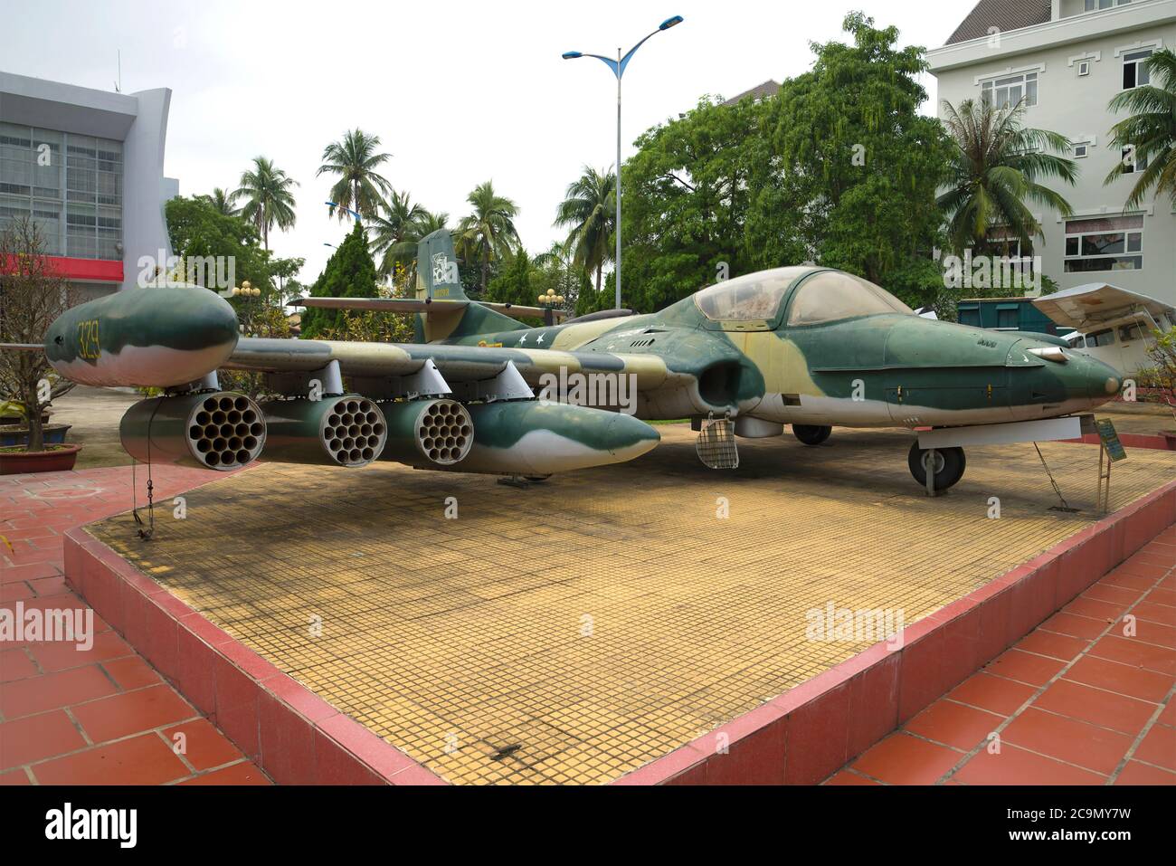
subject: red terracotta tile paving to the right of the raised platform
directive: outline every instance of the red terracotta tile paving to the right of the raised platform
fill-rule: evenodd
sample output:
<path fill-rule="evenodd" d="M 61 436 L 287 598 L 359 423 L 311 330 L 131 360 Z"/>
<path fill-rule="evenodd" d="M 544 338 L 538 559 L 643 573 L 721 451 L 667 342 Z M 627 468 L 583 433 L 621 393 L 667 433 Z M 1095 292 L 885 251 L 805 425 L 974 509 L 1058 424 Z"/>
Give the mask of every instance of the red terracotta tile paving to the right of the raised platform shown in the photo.
<path fill-rule="evenodd" d="M 1169 528 L 828 784 L 1176 785 L 1174 691 Z"/>

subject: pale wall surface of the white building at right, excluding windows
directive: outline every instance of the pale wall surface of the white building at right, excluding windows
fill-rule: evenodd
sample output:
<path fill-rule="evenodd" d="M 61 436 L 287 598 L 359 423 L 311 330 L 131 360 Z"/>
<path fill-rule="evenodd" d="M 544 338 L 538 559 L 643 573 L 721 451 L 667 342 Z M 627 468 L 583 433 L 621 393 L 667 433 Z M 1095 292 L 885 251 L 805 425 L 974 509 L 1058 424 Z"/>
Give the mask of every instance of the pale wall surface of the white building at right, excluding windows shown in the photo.
<path fill-rule="evenodd" d="M 1103 185 L 1121 159 L 1118 148 L 1108 146 L 1110 127 L 1127 116 L 1112 114 L 1107 104 L 1122 89 L 1124 49 L 1149 44 L 1157 48 L 1176 47 L 1176 4 L 1151 0 L 1067 20 L 1071 6 L 1084 7 L 1082 0 L 1062 0 L 1063 20 L 1002 34 L 998 46 L 973 40 L 930 52 L 931 69 L 938 80 L 940 100 L 953 105 L 980 99 L 977 79 L 1007 71 L 1037 69 L 1037 105 L 1027 109 L 1025 125 L 1062 133 L 1074 141 L 1090 141 L 1089 155 L 1075 160 L 1078 167 L 1075 186 L 1058 181 L 1048 185 L 1070 202 L 1075 216 L 1116 215 L 1123 213 L 1136 175 Z M 1089 75 L 1078 76 L 1081 59 L 1090 61 Z M 1035 254 L 1042 257 L 1044 273 L 1062 288 L 1104 280 L 1176 305 L 1176 206 L 1171 196 L 1158 200 L 1151 196 L 1134 211 L 1144 214 L 1141 271 L 1064 273 L 1063 220 L 1040 205 L 1030 204 L 1030 208 L 1044 232 L 1044 241 L 1038 240 Z"/>

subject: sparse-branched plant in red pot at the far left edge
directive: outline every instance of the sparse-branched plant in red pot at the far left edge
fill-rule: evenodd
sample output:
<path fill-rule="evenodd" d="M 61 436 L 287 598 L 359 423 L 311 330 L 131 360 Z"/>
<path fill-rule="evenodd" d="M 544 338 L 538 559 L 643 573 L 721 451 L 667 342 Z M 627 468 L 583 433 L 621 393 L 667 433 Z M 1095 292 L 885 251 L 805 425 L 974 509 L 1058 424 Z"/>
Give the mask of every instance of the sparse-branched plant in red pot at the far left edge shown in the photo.
<path fill-rule="evenodd" d="M 0 401 L 27 429 L 24 441 L 0 446 L 0 474 L 72 469 L 78 459 L 81 446 L 46 442 L 46 409 L 73 382 L 53 372 L 42 347 L 49 325 L 76 300 L 35 221 L 21 216 L 0 229 Z"/>

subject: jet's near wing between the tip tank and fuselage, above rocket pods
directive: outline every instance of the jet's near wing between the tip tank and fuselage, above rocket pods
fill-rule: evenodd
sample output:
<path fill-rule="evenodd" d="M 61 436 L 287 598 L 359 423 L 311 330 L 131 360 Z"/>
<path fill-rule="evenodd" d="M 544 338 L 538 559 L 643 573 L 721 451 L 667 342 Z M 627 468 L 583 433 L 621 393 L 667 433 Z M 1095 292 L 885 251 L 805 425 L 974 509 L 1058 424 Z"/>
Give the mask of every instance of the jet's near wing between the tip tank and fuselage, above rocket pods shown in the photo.
<path fill-rule="evenodd" d="M 512 362 L 532 387 L 544 373 L 624 373 L 636 377 L 639 391 L 660 388 L 676 380 L 656 355 L 604 352 L 560 352 L 449 344 L 345 342 L 334 340 L 276 340 L 242 338 L 222 365 L 229 369 L 265 373 L 310 373 L 339 361 L 346 377 L 390 378 L 421 372 L 429 362 L 449 382 L 493 379 Z"/>

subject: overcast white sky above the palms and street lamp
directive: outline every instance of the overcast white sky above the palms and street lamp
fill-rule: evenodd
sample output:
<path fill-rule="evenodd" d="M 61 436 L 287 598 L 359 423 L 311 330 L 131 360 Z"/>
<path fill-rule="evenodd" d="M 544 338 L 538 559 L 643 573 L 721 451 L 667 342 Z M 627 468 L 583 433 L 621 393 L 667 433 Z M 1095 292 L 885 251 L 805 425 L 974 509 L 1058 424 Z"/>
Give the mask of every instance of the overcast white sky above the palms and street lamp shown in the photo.
<path fill-rule="evenodd" d="M 841 38 L 848 11 L 895 25 L 904 45 L 936 47 L 975 0 L 569 0 L 548 2 L 235 2 L 5 0 L 0 68 L 122 91 L 171 87 L 166 171 L 185 195 L 234 188 L 258 154 L 300 182 L 298 225 L 270 235 L 313 280 L 349 225 L 327 218 L 322 148 L 347 128 L 380 135 L 397 189 L 450 225 L 494 180 L 520 207 L 532 252 L 559 232 L 556 204 L 582 165 L 612 166 L 616 82 L 590 58 L 615 55 L 670 15 L 624 76 L 626 158 L 649 126 L 706 93 L 733 96 L 809 68 L 809 41 Z M 924 86 L 934 105 L 935 80 Z M 930 105 L 926 111 L 930 112 Z"/>

